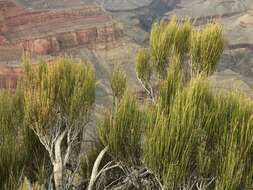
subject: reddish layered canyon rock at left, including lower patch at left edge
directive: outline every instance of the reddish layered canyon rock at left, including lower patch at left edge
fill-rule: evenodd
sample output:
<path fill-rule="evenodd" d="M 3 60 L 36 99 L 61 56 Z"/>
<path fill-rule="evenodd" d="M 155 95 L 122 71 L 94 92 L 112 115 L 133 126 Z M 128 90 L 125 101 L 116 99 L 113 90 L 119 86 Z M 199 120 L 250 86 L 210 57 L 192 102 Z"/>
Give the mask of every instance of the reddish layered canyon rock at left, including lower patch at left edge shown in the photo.
<path fill-rule="evenodd" d="M 0 64 L 0 88 L 16 87 L 23 72 L 10 64 L 20 62 L 23 50 L 55 55 L 82 48 L 107 51 L 120 44 L 121 27 L 100 6 L 81 5 L 78 0 L 48 1 L 57 2 L 65 8 L 34 10 L 0 0 L 0 63 L 7 63 Z"/>

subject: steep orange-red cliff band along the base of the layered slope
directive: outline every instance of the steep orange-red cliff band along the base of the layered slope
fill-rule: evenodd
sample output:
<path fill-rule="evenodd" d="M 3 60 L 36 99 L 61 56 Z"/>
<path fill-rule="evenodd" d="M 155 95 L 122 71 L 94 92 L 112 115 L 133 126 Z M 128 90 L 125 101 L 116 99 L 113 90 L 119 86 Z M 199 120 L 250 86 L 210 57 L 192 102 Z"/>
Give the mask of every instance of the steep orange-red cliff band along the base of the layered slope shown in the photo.
<path fill-rule="evenodd" d="M 113 48 L 121 35 L 122 32 L 117 28 L 117 25 L 110 23 L 109 25 L 61 32 L 41 38 L 20 40 L 16 44 L 20 48 L 36 54 L 52 54 L 79 46 L 89 49 Z"/>

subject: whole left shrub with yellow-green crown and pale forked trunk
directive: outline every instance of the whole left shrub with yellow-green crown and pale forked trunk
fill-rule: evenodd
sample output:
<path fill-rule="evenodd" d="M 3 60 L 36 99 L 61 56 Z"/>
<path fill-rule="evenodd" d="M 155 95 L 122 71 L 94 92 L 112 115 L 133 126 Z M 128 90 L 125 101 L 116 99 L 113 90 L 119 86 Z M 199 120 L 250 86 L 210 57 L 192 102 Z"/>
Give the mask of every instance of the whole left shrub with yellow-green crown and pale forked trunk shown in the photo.
<path fill-rule="evenodd" d="M 22 84 L 25 124 L 47 150 L 55 188 L 69 189 L 79 169 L 83 132 L 95 101 L 94 70 L 70 58 L 34 67 L 26 63 Z"/>

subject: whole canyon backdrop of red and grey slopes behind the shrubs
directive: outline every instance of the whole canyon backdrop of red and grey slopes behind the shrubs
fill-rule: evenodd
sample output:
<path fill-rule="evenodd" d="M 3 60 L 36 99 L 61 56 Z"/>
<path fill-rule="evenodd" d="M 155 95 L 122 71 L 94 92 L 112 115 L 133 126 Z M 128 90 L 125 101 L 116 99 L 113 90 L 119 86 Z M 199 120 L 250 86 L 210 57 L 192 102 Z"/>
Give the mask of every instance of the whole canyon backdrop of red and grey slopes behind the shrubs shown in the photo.
<path fill-rule="evenodd" d="M 224 25 L 228 44 L 211 81 L 253 97 L 252 0 L 0 0 L 0 85 L 15 87 L 23 50 L 33 60 L 68 54 L 95 66 L 97 105 L 106 104 L 113 66 L 138 89 L 136 51 L 148 44 L 152 23 L 172 15 Z"/>

